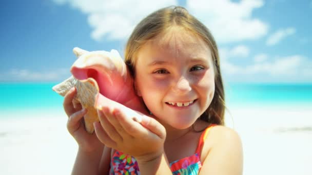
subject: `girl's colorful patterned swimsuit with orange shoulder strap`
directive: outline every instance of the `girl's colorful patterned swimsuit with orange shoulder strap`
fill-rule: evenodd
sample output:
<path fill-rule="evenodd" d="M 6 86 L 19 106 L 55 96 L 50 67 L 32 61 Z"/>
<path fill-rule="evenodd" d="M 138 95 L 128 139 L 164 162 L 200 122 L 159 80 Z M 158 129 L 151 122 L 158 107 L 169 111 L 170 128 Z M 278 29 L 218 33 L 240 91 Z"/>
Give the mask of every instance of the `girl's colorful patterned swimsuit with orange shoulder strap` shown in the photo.
<path fill-rule="evenodd" d="M 190 157 L 186 157 L 177 161 L 173 161 L 169 164 L 172 174 L 180 175 L 180 174 L 198 174 L 199 170 L 202 167 L 202 163 L 200 161 L 200 152 L 204 145 L 204 141 L 208 135 L 209 130 L 213 125 L 207 127 L 202 133 L 196 152 Z M 132 174 L 140 174 L 139 165 L 136 160 L 129 155 L 123 154 L 123 152 L 114 150 L 112 154 L 112 158 L 110 161 L 110 171 L 109 174 L 114 175 L 132 175 Z"/>

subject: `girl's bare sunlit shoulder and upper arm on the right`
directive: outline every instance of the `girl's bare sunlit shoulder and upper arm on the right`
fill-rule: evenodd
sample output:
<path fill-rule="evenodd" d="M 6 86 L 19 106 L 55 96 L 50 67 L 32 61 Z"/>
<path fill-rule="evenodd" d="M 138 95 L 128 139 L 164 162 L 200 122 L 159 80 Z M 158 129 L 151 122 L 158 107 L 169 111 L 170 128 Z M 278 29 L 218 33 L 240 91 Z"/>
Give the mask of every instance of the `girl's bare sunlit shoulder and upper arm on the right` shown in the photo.
<path fill-rule="evenodd" d="M 209 139 L 213 140 L 212 147 L 199 174 L 243 174 L 243 148 L 238 133 L 218 126 L 211 129 Z"/>

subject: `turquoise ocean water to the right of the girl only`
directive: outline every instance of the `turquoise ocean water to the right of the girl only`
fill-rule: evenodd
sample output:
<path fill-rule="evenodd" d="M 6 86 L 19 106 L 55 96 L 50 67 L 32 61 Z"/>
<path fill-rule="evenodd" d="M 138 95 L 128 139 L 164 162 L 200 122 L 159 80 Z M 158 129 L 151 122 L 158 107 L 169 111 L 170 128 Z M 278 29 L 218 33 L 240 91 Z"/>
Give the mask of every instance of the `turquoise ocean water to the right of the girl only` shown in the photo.
<path fill-rule="evenodd" d="M 226 102 L 230 106 L 296 106 L 312 108 L 310 84 L 226 84 Z"/>

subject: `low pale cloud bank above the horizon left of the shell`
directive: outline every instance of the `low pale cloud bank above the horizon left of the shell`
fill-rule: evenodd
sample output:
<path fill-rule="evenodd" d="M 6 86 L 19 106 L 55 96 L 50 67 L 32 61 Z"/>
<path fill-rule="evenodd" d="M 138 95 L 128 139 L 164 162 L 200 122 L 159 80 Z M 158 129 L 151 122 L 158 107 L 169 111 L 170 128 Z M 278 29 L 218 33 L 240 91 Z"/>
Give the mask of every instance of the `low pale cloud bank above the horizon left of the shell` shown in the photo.
<path fill-rule="evenodd" d="M 58 69 L 50 72 L 32 71 L 27 69 L 11 69 L 1 73 L 0 81 L 59 81 L 70 76 L 68 69 Z"/>

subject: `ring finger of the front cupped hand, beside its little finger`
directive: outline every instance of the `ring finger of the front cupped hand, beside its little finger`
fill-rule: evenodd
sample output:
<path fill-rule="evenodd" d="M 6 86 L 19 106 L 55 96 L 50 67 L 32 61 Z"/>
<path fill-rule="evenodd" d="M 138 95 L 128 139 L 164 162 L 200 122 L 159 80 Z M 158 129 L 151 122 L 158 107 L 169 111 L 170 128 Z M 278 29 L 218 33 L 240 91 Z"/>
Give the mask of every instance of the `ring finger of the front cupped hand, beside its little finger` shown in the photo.
<path fill-rule="evenodd" d="M 123 141 L 123 138 L 119 135 L 114 126 L 107 119 L 106 115 L 110 115 L 109 113 L 109 109 L 105 107 L 102 108 L 102 111 L 97 110 L 99 120 L 107 135 L 115 142 L 121 142 Z"/>

